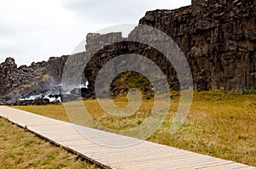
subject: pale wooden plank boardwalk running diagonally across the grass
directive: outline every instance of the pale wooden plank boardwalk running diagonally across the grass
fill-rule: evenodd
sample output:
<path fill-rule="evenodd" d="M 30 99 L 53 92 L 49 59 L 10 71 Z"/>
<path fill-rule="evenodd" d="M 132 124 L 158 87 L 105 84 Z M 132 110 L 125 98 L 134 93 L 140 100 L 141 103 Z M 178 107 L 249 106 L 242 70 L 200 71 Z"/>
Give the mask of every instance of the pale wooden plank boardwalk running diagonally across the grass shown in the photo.
<path fill-rule="evenodd" d="M 102 143 L 105 142 L 108 145 L 117 146 L 139 141 L 138 144 L 125 147 L 96 144 L 78 132 L 71 123 L 10 107 L 0 106 L 0 116 L 107 168 L 256 168 L 234 161 L 225 161 L 183 149 L 82 127 L 90 137 L 100 138 Z"/>

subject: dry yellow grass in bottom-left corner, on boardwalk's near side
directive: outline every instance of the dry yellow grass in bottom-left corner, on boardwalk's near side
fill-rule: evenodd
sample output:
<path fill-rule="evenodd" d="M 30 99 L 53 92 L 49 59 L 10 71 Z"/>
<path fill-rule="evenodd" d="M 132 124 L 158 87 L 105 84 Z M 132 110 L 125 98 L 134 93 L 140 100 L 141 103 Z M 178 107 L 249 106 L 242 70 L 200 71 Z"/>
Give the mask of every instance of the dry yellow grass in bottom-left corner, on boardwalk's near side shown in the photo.
<path fill-rule="evenodd" d="M 0 168 L 99 168 L 0 118 Z"/>

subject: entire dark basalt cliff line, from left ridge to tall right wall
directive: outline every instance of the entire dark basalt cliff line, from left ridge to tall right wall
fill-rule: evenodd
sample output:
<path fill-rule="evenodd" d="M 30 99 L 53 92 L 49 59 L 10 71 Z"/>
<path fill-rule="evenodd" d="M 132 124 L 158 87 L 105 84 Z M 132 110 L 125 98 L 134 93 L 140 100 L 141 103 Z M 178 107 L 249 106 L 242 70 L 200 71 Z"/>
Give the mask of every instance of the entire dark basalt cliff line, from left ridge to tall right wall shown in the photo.
<path fill-rule="evenodd" d="M 193 0 L 191 6 L 149 11 L 139 24 L 152 26 L 172 37 L 189 62 L 196 90 L 242 90 L 256 87 L 254 0 Z M 135 31 L 129 37 L 135 36 Z M 109 39 L 119 39 L 120 42 L 112 44 Z M 84 76 L 89 85 L 82 92 L 84 98 L 95 95 L 94 84 L 98 71 L 108 60 L 120 54 L 141 54 L 153 60 L 167 76 L 170 86 L 178 89 L 176 72 L 163 54 L 145 44 L 121 42 L 122 40 L 125 38 L 121 33 L 87 35 L 84 54 L 90 54 L 93 48 L 102 44 L 104 48 L 99 48 L 85 66 Z M 153 38 L 151 41 L 157 42 L 158 39 Z M 47 62 L 22 65 L 19 68 L 14 59 L 6 59 L 0 65 L 0 98 L 3 101 L 26 98 L 61 84 L 67 57 L 50 58 Z M 131 60 L 132 62 L 136 60 Z M 127 79 L 129 81 L 128 77 Z M 118 86 L 118 82 L 113 82 L 113 86 Z M 115 87 L 112 91 L 120 90 Z"/>

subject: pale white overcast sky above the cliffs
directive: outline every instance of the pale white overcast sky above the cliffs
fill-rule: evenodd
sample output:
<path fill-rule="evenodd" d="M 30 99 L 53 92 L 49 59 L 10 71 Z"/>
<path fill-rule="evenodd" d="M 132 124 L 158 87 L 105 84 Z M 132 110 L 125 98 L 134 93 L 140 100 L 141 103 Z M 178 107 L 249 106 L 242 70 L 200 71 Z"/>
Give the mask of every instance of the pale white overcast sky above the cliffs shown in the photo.
<path fill-rule="evenodd" d="M 17 65 L 71 54 L 90 32 L 138 24 L 146 11 L 173 9 L 191 0 L 0 0 L 0 63 Z"/>

